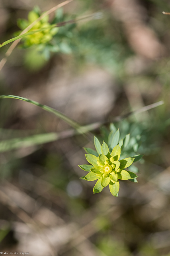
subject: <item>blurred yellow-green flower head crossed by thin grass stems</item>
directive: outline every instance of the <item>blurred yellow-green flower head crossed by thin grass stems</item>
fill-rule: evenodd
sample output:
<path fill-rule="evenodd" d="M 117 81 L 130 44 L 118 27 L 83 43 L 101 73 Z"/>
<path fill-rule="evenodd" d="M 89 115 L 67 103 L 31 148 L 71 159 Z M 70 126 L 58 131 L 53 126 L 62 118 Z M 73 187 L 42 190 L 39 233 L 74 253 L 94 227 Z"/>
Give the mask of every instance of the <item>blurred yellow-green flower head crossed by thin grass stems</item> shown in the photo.
<path fill-rule="evenodd" d="M 32 22 L 37 20 L 39 16 L 40 15 L 37 14 L 37 12 L 34 12 L 34 11 L 29 12 L 28 20 L 24 20 L 24 19 L 18 20 L 18 27 L 21 28 L 21 30 L 24 30 Z M 48 20 L 49 20 L 49 16 L 46 16 L 42 20 L 38 21 L 33 26 L 33 28 L 29 30 L 29 32 L 35 31 L 35 30 L 41 30 L 41 31 L 35 32 L 34 34 L 31 34 L 22 38 L 22 40 L 24 41 L 23 45 L 25 47 L 38 45 L 38 44 L 46 44 L 53 38 L 53 36 L 58 32 L 59 28 L 51 26 Z M 18 33 L 20 34 L 20 32 L 21 31 L 19 31 Z"/>

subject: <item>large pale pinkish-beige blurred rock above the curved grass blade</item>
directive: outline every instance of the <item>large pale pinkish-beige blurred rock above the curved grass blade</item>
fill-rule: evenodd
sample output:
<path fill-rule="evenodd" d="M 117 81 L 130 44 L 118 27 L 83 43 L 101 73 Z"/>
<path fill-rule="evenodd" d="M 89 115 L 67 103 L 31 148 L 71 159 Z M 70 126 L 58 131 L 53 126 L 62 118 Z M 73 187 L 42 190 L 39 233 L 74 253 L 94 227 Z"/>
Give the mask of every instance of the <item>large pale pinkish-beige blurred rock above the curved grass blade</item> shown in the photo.
<path fill-rule="evenodd" d="M 113 108 L 116 87 L 106 70 L 89 67 L 82 74 L 52 70 L 47 99 L 53 108 L 80 122 L 103 120 Z"/>

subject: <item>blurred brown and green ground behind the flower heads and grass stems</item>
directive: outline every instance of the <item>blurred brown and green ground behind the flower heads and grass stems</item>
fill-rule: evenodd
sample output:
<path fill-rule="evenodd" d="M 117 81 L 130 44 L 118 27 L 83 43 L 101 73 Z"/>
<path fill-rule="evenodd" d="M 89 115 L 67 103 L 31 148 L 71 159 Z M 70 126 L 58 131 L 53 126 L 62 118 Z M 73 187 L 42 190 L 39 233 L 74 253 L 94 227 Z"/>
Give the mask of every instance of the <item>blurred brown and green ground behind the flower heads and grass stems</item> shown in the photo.
<path fill-rule="evenodd" d="M 59 3 L 0 0 L 0 43 L 13 37 L 17 19 L 27 19 L 35 6 L 44 12 Z M 170 255 L 170 16 L 162 11 L 170 12 L 170 1 L 74 0 L 50 20 L 96 12 L 100 19 L 62 26 L 43 52 L 21 48 L 21 40 L 8 57 L 1 95 L 46 104 L 81 125 L 106 122 L 92 131 L 101 142 L 115 116 L 164 104 L 114 122 L 131 133 L 134 151 L 145 154 L 136 164 L 139 183 L 121 181 L 115 198 L 108 188 L 94 195 L 95 182 L 80 180 L 85 174 L 78 164 L 87 164 L 83 147 L 94 148 L 92 140 L 62 133 L 68 124 L 37 106 L 0 100 L 3 253 Z M 0 59 L 8 48 L 0 49 Z M 49 143 L 43 136 L 28 145 L 20 139 L 54 132 L 59 139 Z"/>

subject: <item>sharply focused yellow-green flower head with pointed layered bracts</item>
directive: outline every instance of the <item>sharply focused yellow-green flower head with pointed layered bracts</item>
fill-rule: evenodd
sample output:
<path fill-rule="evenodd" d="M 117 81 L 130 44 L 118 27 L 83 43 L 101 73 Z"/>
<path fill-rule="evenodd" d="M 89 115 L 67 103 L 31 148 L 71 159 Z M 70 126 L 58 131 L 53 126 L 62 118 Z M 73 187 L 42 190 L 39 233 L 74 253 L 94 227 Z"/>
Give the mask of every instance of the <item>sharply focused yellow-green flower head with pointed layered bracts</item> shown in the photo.
<path fill-rule="evenodd" d="M 115 138 L 116 136 L 113 137 L 113 140 L 116 140 Z M 96 137 L 94 137 L 94 145 L 96 151 L 85 148 L 86 152 L 90 153 L 86 154 L 86 159 L 91 165 L 79 165 L 84 171 L 89 172 L 82 178 L 89 181 L 98 180 L 93 189 L 94 194 L 101 192 L 104 187 L 109 185 L 111 194 L 118 196 L 119 180 L 130 180 L 138 177 L 135 173 L 124 169 L 131 166 L 133 162 L 140 160 L 142 156 L 138 155 L 133 158 L 128 157 L 119 160 L 123 147 L 122 139 L 119 144 L 113 148 L 111 153 L 107 144 L 103 142 L 101 146 Z"/>

